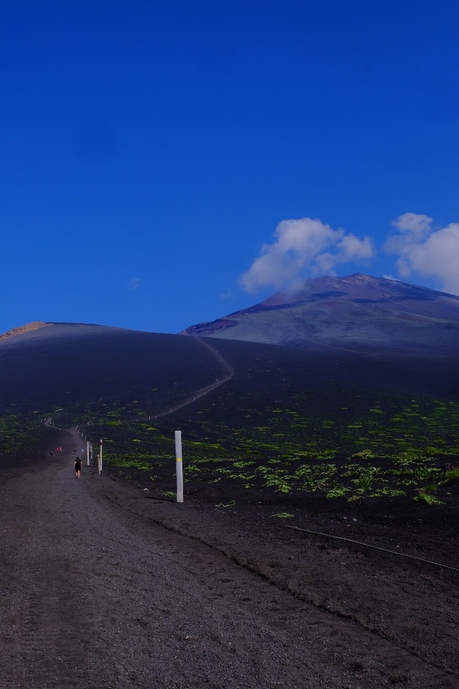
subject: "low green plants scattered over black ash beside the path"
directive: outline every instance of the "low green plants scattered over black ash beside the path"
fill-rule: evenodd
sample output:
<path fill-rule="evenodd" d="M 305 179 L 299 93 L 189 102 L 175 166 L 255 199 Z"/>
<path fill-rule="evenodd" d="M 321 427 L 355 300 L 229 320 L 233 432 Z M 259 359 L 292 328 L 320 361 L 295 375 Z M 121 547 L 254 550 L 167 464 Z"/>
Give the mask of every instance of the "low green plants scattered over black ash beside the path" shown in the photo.
<path fill-rule="evenodd" d="M 104 438 L 109 466 L 130 476 L 145 473 L 162 493 L 175 482 L 176 428 L 182 429 L 186 489 L 195 495 L 209 486 L 224 486 L 233 495 L 234 486 L 237 495 L 253 495 L 254 501 L 259 491 L 277 494 L 277 500 L 321 492 L 330 500 L 407 495 L 433 505 L 459 477 L 456 402 L 350 394 L 330 384 L 293 391 L 283 406 L 269 398 L 255 404 L 255 393 L 222 387 L 206 407 L 155 419 L 148 410 L 160 393 L 150 394 L 45 414 L 21 415 L 10 407 L 0 418 L 0 451 L 24 449 L 43 417 L 52 416 L 61 427 L 78 424 L 94 442 Z"/>

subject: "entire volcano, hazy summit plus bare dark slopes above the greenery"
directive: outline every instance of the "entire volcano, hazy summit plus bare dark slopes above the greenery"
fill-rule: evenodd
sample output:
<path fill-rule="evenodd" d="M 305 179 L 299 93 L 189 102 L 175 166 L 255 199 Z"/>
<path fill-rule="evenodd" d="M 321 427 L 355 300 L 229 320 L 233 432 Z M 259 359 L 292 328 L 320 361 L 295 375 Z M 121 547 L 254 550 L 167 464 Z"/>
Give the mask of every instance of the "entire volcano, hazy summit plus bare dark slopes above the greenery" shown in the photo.
<path fill-rule="evenodd" d="M 266 400 L 288 405 L 328 385 L 457 400 L 458 347 L 458 297 L 360 274 L 323 277 L 180 335 L 74 323 L 14 329 L 0 336 L 0 411 L 129 402 L 139 416 L 156 415 L 191 396 L 197 412 L 206 409 L 200 391 L 217 387 L 220 400 L 231 393 L 236 415 L 244 395 L 262 412 Z"/>

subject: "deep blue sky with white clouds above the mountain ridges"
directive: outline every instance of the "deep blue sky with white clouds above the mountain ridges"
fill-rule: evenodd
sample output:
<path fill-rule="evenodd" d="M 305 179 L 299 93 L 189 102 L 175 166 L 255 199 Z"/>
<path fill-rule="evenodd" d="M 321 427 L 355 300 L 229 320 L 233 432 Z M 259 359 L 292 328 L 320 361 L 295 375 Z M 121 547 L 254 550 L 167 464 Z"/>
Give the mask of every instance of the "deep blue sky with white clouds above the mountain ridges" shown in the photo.
<path fill-rule="evenodd" d="M 459 294 L 458 45 L 453 0 L 3 3 L 0 331 Z"/>

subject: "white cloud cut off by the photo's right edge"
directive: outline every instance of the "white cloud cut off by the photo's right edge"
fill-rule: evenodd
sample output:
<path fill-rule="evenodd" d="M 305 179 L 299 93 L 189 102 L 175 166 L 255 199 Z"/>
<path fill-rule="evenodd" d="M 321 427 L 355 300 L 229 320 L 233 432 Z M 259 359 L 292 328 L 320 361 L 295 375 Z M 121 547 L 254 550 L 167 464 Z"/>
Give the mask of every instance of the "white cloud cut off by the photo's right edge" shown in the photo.
<path fill-rule="evenodd" d="M 443 291 L 459 294 L 459 223 L 434 229 L 432 218 L 415 213 L 399 216 L 392 225 L 398 234 L 389 237 L 385 250 L 398 255 L 403 278 L 413 275 L 433 279 Z"/>

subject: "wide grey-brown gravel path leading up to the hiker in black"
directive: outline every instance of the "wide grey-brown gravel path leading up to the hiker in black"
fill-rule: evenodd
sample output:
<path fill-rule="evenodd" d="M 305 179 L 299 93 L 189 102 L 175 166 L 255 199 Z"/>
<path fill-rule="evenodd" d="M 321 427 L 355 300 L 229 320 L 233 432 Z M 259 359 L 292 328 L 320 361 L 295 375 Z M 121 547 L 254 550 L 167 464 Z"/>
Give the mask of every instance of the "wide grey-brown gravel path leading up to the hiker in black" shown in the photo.
<path fill-rule="evenodd" d="M 148 500 L 86 466 L 75 480 L 81 440 L 67 438 L 37 471 L 0 476 L 6 689 L 458 686 L 450 659 L 442 667 L 336 614 L 334 600 L 289 592 L 270 574 L 284 549 L 257 524 Z M 294 565 L 303 584 L 326 588 L 330 573 L 305 555 Z M 362 573 L 366 582 L 378 570 L 365 563 Z M 338 586 L 336 568 L 331 578 Z M 349 577 L 345 586 L 337 597 L 358 597 Z M 456 648 L 457 633 L 449 619 Z"/>

